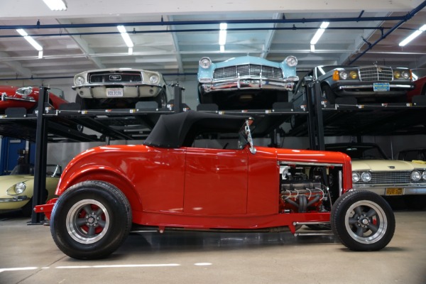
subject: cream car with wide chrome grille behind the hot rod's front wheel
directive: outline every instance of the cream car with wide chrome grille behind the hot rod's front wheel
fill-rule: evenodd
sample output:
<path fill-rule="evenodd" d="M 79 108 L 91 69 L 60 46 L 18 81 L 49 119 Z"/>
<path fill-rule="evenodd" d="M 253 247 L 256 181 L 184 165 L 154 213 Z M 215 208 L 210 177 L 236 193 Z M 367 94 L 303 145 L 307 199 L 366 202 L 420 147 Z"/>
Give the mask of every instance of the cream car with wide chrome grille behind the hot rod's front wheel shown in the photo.
<path fill-rule="evenodd" d="M 355 189 L 384 196 L 426 195 L 425 163 L 388 160 L 374 143 L 328 144 L 325 149 L 346 153 L 351 157 Z"/>

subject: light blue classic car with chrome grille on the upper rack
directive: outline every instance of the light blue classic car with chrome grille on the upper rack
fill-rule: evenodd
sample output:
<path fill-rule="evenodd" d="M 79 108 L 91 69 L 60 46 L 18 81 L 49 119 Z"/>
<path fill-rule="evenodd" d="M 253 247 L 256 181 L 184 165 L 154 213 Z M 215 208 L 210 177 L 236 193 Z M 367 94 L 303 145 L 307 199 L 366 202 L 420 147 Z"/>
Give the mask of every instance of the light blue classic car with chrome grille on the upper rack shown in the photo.
<path fill-rule="evenodd" d="M 201 58 L 198 67 L 200 104 L 217 104 L 219 109 L 271 109 L 274 102 L 288 102 L 295 82 L 297 58 L 272 62 L 253 56 L 213 63 Z"/>

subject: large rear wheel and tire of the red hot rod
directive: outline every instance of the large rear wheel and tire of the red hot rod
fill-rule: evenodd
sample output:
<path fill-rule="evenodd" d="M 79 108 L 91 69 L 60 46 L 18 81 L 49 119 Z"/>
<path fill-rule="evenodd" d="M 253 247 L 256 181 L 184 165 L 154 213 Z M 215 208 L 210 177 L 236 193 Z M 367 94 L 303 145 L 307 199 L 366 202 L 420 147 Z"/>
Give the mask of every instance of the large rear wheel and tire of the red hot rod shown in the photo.
<path fill-rule="evenodd" d="M 60 195 L 53 207 L 50 233 L 67 256 L 105 258 L 129 235 L 131 220 L 124 193 L 107 182 L 91 180 Z"/>

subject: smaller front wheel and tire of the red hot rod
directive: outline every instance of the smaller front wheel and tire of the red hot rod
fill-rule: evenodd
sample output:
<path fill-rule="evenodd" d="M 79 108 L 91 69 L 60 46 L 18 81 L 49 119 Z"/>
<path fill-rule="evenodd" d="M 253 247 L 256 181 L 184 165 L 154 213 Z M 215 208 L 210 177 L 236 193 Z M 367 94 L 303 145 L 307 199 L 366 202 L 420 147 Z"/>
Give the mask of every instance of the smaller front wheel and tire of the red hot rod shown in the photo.
<path fill-rule="evenodd" d="M 388 202 L 367 190 L 351 190 L 339 197 L 330 217 L 332 230 L 352 251 L 378 251 L 395 232 L 395 216 Z"/>

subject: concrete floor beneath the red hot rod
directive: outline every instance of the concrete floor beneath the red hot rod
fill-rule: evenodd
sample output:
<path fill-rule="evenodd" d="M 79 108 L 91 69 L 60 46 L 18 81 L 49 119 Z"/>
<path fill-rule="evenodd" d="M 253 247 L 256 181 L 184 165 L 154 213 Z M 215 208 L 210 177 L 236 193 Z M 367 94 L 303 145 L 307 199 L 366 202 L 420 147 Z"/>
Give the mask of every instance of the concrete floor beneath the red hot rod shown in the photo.
<path fill-rule="evenodd" d="M 131 234 L 102 261 L 77 261 L 46 226 L 0 214 L 0 283 L 426 283 L 426 210 L 395 212 L 382 251 L 354 252 L 334 236 L 290 233 Z"/>

